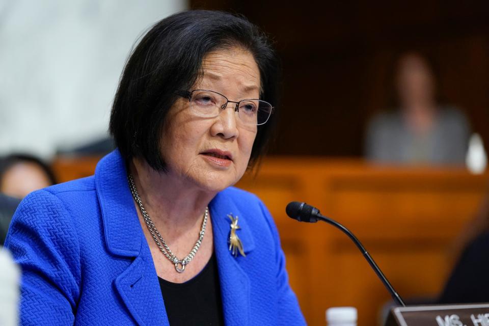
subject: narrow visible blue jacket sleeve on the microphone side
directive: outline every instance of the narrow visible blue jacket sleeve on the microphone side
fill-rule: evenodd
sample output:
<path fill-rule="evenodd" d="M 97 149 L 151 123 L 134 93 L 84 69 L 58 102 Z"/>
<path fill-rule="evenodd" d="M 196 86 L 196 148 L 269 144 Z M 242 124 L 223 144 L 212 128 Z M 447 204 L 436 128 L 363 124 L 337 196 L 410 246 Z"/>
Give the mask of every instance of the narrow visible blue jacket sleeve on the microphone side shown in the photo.
<path fill-rule="evenodd" d="M 277 266 L 277 291 L 279 302 L 277 312 L 278 325 L 305 325 L 306 321 L 297 302 L 297 297 L 289 285 L 289 277 L 285 269 L 285 255 L 280 245 L 280 237 L 277 227 L 270 212 L 260 201 L 260 207 L 266 218 L 268 227 L 275 239 L 276 266 Z"/>

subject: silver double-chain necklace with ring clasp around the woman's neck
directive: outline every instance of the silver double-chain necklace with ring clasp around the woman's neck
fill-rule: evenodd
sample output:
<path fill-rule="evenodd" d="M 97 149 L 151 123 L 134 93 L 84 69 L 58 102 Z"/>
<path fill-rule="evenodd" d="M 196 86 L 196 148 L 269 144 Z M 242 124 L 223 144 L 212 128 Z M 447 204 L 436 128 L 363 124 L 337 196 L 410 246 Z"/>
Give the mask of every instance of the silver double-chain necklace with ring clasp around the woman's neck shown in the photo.
<path fill-rule="evenodd" d="M 207 224 L 207 216 L 209 215 L 209 207 L 205 208 L 204 221 L 202 222 L 202 228 L 199 232 L 199 238 L 197 239 L 197 242 L 195 242 L 194 248 L 185 258 L 180 260 L 175 256 L 174 253 L 172 253 L 167 245 L 167 242 L 165 242 L 159 231 L 154 226 L 154 223 L 146 212 L 146 209 L 144 209 L 143 203 L 141 202 L 141 198 L 138 194 L 138 189 L 134 184 L 134 179 L 132 175 L 129 174 L 127 176 L 127 179 L 129 181 L 129 188 L 131 189 L 132 197 L 134 197 L 134 200 L 138 203 L 139 209 L 143 214 L 144 222 L 146 223 L 146 226 L 148 227 L 148 230 L 151 233 L 154 242 L 156 242 L 156 246 L 158 246 L 159 250 L 162 254 L 165 255 L 165 257 L 167 257 L 173 264 L 175 264 L 176 271 L 178 271 L 178 273 L 183 273 L 183 271 L 185 270 L 185 265 L 187 265 L 192 260 L 192 258 L 194 258 L 195 254 L 200 248 L 200 245 L 202 244 L 202 239 L 204 238 L 205 234 L 205 226 Z"/>

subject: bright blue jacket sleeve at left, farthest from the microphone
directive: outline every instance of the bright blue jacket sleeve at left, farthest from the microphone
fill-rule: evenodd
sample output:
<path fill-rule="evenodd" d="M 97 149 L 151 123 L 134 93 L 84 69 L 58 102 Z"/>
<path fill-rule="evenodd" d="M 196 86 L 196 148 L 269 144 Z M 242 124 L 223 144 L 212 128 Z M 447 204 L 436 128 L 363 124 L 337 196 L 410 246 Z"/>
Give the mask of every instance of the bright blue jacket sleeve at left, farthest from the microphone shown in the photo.
<path fill-rule="evenodd" d="M 21 325 L 72 325 L 79 296 L 80 251 L 61 200 L 30 194 L 13 216 L 5 242 L 22 270 Z"/>

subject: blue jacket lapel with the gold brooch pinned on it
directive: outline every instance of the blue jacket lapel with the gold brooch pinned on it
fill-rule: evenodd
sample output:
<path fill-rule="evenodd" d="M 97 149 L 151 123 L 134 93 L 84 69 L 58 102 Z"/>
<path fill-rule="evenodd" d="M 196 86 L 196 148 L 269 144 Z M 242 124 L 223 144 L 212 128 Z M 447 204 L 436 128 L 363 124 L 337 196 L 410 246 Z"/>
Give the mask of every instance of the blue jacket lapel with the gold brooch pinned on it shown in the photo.
<path fill-rule="evenodd" d="M 246 213 L 239 211 L 222 193 L 215 196 L 209 209 L 212 219 L 214 251 L 218 259 L 225 323 L 227 325 L 248 325 L 250 280 L 239 265 L 239 261 L 247 257 L 242 257 L 239 253 L 237 257 L 234 257 L 229 251 L 228 238 L 231 221 L 227 216 L 230 213 L 234 217 L 238 216 L 238 225 L 241 228 L 236 231 L 236 234 L 243 243 L 244 253 L 248 256 L 252 255 L 255 243 L 247 223 Z"/>

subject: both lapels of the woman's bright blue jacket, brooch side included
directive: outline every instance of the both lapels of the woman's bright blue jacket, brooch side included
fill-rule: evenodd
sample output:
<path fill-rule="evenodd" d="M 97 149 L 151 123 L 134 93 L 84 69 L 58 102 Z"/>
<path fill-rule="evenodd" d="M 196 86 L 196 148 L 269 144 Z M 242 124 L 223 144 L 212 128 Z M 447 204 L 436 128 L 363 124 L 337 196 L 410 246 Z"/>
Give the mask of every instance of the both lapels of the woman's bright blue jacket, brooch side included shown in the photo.
<path fill-rule="evenodd" d="M 95 182 L 108 251 L 114 255 L 135 257 L 114 281 L 122 301 L 139 324 L 168 325 L 151 252 L 132 201 L 125 162 L 118 150 L 108 154 L 97 164 Z M 230 190 L 217 194 L 209 204 L 223 313 L 226 324 L 248 325 L 251 314 L 250 280 L 240 266 L 240 262 L 247 257 L 239 254 L 234 257 L 229 251 L 231 221 L 227 215 L 231 213 L 239 218 L 240 229 L 236 234 L 241 239 L 247 256 L 252 255 L 255 248 L 248 223 L 253 216 L 238 209 L 230 196 L 226 195 L 228 191 Z"/>

